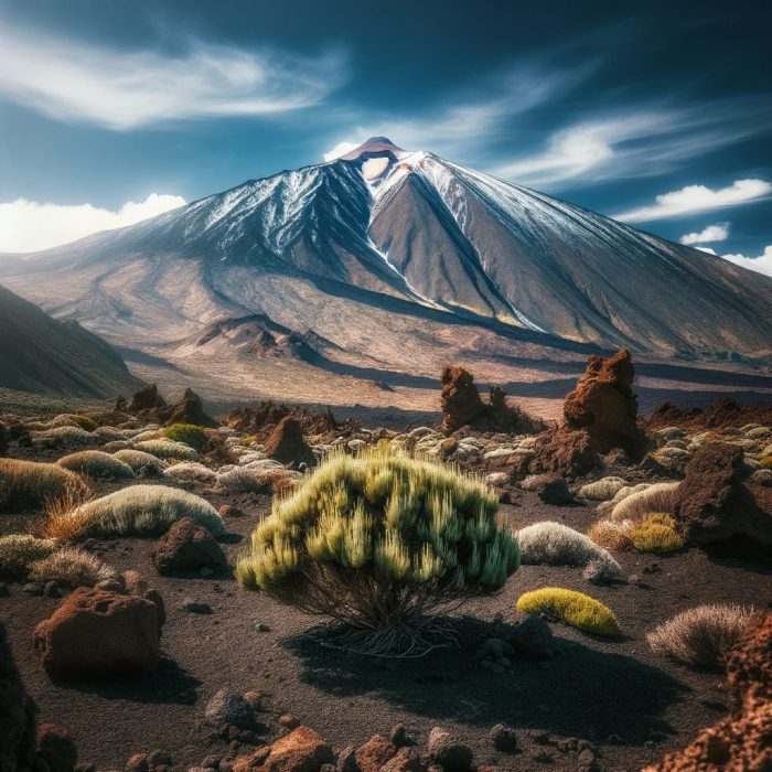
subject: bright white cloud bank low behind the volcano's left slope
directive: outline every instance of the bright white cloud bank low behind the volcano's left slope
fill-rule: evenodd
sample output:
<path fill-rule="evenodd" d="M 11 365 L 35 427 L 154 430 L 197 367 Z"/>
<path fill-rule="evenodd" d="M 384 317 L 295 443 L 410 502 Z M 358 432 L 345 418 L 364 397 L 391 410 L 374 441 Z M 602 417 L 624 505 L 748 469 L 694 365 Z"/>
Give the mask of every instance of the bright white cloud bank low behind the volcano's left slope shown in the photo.
<path fill-rule="evenodd" d="M 144 201 L 129 201 L 112 212 L 92 204 L 41 204 L 17 199 L 0 203 L 0 251 L 47 249 L 98 230 L 132 225 L 184 203 L 179 195 L 151 193 Z"/>

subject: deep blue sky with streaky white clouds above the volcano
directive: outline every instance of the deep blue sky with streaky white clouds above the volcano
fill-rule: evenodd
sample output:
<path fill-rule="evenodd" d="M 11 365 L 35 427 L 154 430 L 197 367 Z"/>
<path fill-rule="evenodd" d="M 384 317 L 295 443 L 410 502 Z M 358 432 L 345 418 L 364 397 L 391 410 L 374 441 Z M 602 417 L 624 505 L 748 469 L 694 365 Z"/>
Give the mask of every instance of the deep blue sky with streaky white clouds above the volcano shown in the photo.
<path fill-rule="evenodd" d="M 378 133 L 758 258 L 771 32 L 761 0 L 0 0 L 0 251 Z"/>

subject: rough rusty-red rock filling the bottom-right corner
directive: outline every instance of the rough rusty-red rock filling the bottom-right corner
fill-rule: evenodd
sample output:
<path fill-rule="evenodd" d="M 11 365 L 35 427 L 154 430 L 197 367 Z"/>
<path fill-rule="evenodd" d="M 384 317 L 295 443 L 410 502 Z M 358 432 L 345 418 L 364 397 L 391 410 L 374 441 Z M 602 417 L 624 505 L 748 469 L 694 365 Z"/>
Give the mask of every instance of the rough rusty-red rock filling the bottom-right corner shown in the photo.
<path fill-rule="evenodd" d="M 772 613 L 754 614 L 727 660 L 735 710 L 683 751 L 643 772 L 768 772 L 772 769 Z"/>

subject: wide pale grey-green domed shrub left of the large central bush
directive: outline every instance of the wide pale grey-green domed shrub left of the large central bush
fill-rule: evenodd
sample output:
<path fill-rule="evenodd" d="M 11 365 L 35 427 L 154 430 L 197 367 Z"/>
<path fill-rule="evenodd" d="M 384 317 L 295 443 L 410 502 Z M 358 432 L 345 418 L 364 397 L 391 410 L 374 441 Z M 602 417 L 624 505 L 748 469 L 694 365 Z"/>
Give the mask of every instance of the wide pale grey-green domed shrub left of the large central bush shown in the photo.
<path fill-rule="evenodd" d="M 200 496 L 165 485 L 131 485 L 69 512 L 50 513 L 46 535 L 147 536 L 162 534 L 181 517 L 191 517 L 213 534 L 225 530 L 217 511 Z"/>

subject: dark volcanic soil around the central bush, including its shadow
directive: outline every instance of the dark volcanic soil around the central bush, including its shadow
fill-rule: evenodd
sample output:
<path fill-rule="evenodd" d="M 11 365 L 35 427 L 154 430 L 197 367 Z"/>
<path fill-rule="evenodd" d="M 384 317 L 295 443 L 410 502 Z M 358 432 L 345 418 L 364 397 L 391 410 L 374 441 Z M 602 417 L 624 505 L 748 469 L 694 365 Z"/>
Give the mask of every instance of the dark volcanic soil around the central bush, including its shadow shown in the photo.
<path fill-rule="evenodd" d="M 227 521 L 224 547 L 233 562 L 240 537 L 268 512 L 270 501 L 203 495 L 215 506 L 230 503 L 247 512 L 246 517 Z M 556 519 L 583 529 L 593 516 L 591 507 L 550 507 L 529 493 L 502 512 L 517 527 Z M 0 532 L 29 528 L 33 518 L 3 516 Z M 211 739 L 202 725 L 206 701 L 222 687 L 265 694 L 266 723 L 291 712 L 336 750 L 375 732 L 387 733 L 397 722 L 425 742 L 431 727 L 441 725 L 468 741 L 479 762 L 495 760 L 505 770 L 534 770 L 545 764 L 536 757 L 546 752 L 553 761 L 545 769 L 576 769 L 575 754 L 538 744 L 528 732 L 545 730 L 556 740 L 576 737 L 596 743 L 602 770 L 635 770 L 665 750 L 683 748 L 726 710 L 719 676 L 653 656 L 645 633 L 699 603 L 764 607 L 772 601 L 769 566 L 712 561 L 694 549 L 656 559 L 615 555 L 628 575 L 636 573 L 642 581 L 618 588 L 592 587 L 576 568 L 524 566 L 498 596 L 465 607 L 471 619 L 458 622 L 460 648 L 436 651 L 420 660 L 383 661 L 321 648 L 303 637 L 318 620 L 246 592 L 230 578 L 158 576 L 148 540 L 104 544 L 103 559 L 120 570 L 138 569 L 167 602 L 165 656 L 154 674 L 114 684 L 52 684 L 32 648 L 31 632 L 58 601 L 24 596 L 18 586 L 10 598 L 0 598 L 0 619 L 41 720 L 69 729 L 79 760 L 100 770 L 122 769 L 132 753 L 154 749 L 170 751 L 175 768 L 186 770 L 207 753 L 224 750 L 226 743 Z M 610 605 L 626 637 L 609 642 L 554 625 L 562 653 L 553 662 L 515 661 L 504 675 L 482 668 L 474 651 L 481 640 L 495 634 L 490 623 L 497 614 L 515 619 L 518 596 L 548 585 L 588 592 Z M 214 613 L 184 611 L 186 598 L 206 601 Z M 260 623 L 270 631 L 258 632 Z M 495 751 L 487 733 L 500 721 L 517 728 L 522 752 Z"/>

